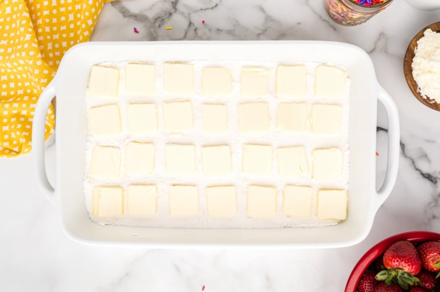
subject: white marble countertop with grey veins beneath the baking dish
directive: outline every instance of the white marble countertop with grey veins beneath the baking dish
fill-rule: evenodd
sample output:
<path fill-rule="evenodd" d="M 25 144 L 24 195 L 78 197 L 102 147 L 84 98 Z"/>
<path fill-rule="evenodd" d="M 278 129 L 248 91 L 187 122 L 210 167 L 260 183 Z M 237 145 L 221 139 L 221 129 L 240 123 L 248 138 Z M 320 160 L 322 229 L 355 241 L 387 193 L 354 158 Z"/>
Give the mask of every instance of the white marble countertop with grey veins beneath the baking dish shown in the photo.
<path fill-rule="evenodd" d="M 402 21 L 404 20 L 404 21 Z M 403 75 L 412 37 L 440 12 L 403 0 L 358 27 L 330 20 L 323 0 L 116 0 L 92 41 L 329 40 L 360 46 L 400 114 L 399 173 L 360 244 L 330 250 L 150 250 L 85 246 L 68 239 L 57 209 L 37 189 L 30 155 L 0 160 L 2 291 L 343 291 L 361 255 L 410 230 L 440 232 L 440 113 L 419 103 Z M 205 21 L 205 23 L 202 23 Z M 172 26 L 166 30 L 166 26 Z M 133 32 L 133 27 L 139 31 Z M 378 108 L 377 184 L 386 165 L 387 121 Z M 54 146 L 47 171 L 54 177 Z"/>

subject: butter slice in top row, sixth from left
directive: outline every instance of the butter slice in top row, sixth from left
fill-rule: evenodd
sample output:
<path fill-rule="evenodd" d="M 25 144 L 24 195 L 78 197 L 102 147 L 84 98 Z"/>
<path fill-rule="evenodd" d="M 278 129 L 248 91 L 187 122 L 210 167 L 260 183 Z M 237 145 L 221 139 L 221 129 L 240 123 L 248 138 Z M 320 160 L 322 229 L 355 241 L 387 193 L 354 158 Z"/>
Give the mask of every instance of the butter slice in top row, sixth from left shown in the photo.
<path fill-rule="evenodd" d="M 306 96 L 306 66 L 283 65 L 277 67 L 277 97 Z"/>

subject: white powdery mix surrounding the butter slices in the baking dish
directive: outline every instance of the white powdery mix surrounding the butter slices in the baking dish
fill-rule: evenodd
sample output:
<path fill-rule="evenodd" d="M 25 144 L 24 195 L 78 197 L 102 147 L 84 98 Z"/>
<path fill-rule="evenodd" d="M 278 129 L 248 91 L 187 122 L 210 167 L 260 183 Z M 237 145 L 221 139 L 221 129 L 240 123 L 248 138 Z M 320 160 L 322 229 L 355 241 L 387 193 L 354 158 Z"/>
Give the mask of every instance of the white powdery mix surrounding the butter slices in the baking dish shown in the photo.
<path fill-rule="evenodd" d="M 92 98 L 86 93 L 87 112 L 90 107 L 117 103 L 120 107 L 122 133 L 119 137 L 91 137 L 88 135 L 86 146 L 86 169 L 84 193 L 86 207 L 91 220 L 98 224 L 116 224 L 144 227 L 177 227 L 177 228 L 280 228 L 280 227 L 323 227 L 335 225 L 337 220 L 318 220 L 316 217 L 316 193 L 320 188 L 347 189 L 349 182 L 349 110 L 350 110 L 350 80 L 347 79 L 342 99 L 313 97 L 314 71 L 318 63 L 303 63 L 307 66 L 307 94 L 305 98 L 276 98 L 275 71 L 279 63 L 276 62 L 242 62 L 242 61 L 203 61 L 193 60 L 187 63 L 194 64 L 195 91 L 191 96 L 170 96 L 162 90 L 163 63 L 154 63 L 156 68 L 156 90 L 151 97 L 135 97 L 125 92 L 125 64 L 127 62 L 108 62 L 100 65 L 116 67 L 120 70 L 119 98 L 103 99 Z M 333 64 L 330 64 L 333 65 Z M 200 94 L 201 69 L 209 66 L 223 66 L 231 68 L 233 78 L 233 92 L 228 96 L 206 97 Z M 242 67 L 261 66 L 270 69 L 269 91 L 265 97 L 241 97 L 240 74 Z M 164 132 L 163 112 L 161 104 L 172 101 L 191 101 L 194 113 L 194 131 L 186 134 L 169 134 Z M 266 102 L 269 104 L 269 131 L 262 134 L 240 134 L 238 131 L 237 112 L 238 104 L 246 102 Z M 312 104 L 339 104 L 342 106 L 342 129 L 339 135 L 317 136 L 312 135 L 307 125 L 304 134 L 278 133 L 276 130 L 276 112 L 280 103 L 306 103 L 308 115 Z M 157 105 L 158 131 L 153 135 L 131 135 L 127 129 L 127 104 L 154 103 Z M 228 131 L 224 134 L 206 134 L 201 129 L 202 104 L 226 104 L 228 109 Z M 131 175 L 125 173 L 125 145 L 130 141 L 154 143 L 155 170 L 151 175 Z M 165 172 L 165 144 L 180 143 L 194 144 L 196 147 L 196 173 L 189 176 L 171 176 Z M 273 164 L 271 175 L 253 176 L 242 173 L 242 145 L 263 144 L 272 146 Z M 91 152 L 94 146 L 115 146 L 121 149 L 121 174 L 118 179 L 99 179 L 88 175 L 90 169 Z M 230 145 L 232 155 L 232 173 L 224 177 L 206 177 L 201 167 L 201 146 Z M 285 178 L 278 175 L 276 149 L 282 146 L 304 146 L 306 148 L 309 172 L 303 177 Z M 343 151 L 343 175 L 339 179 L 315 181 L 311 179 L 311 152 L 316 148 L 339 147 Z M 95 186 L 121 186 L 126 191 L 131 184 L 154 184 L 157 186 L 157 212 L 152 217 L 132 218 L 127 215 L 127 196 L 124 196 L 124 216 L 117 218 L 100 218 L 92 215 L 92 188 Z M 195 217 L 176 218 L 169 214 L 168 188 L 170 185 L 196 185 L 199 194 L 199 212 Z M 206 192 L 208 186 L 233 185 L 237 192 L 237 215 L 234 218 L 211 218 L 207 214 Z M 272 186 L 277 189 L 277 213 L 270 219 L 255 219 L 246 217 L 246 195 L 249 185 Z M 283 189 L 286 185 L 304 185 L 313 188 L 312 216 L 309 218 L 286 217 L 282 211 Z M 350 199 L 350 194 L 349 194 Z"/>

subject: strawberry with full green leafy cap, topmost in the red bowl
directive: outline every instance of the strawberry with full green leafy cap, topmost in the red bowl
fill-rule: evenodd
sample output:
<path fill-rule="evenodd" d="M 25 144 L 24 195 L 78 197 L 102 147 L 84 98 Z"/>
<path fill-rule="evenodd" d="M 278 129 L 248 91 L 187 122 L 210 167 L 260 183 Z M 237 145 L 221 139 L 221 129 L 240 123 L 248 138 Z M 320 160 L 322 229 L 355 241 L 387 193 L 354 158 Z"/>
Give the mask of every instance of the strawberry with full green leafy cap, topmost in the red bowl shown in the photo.
<path fill-rule="evenodd" d="M 405 290 L 420 281 L 415 276 L 421 270 L 421 260 L 416 247 L 407 240 L 397 241 L 383 254 L 383 265 L 388 270 L 380 271 L 376 279 L 390 285 L 393 281 Z"/>

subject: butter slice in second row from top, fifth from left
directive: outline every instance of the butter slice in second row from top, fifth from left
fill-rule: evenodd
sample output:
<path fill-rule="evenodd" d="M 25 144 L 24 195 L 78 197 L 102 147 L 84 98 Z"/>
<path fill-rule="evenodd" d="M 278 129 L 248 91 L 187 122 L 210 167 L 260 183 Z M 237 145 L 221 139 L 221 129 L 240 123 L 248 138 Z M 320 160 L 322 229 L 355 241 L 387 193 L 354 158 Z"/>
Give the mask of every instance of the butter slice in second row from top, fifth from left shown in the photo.
<path fill-rule="evenodd" d="M 245 134 L 262 133 L 269 130 L 269 105 L 247 103 L 238 106 L 239 130 Z"/>

